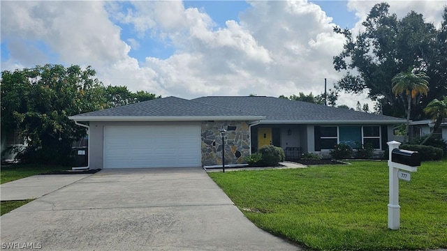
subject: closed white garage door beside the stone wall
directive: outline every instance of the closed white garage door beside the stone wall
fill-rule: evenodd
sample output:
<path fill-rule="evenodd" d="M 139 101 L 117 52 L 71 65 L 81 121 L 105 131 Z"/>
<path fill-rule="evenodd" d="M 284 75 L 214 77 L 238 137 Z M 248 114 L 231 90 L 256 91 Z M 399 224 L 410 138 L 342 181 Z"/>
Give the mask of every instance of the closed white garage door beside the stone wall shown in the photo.
<path fill-rule="evenodd" d="M 104 128 L 105 169 L 200 166 L 200 126 Z"/>

